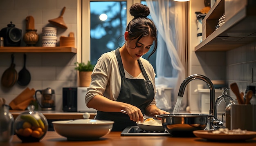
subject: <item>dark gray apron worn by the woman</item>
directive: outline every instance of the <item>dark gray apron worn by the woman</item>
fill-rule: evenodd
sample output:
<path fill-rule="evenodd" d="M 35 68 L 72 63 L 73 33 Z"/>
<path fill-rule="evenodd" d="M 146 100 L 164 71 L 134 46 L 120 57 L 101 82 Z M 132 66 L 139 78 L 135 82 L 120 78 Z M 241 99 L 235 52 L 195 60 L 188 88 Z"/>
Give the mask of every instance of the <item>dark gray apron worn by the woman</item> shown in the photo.
<path fill-rule="evenodd" d="M 124 66 L 121 60 L 119 48 L 115 50 L 117 56 L 117 62 L 119 65 L 119 71 L 121 74 L 121 89 L 117 101 L 137 106 L 141 113 L 145 114 L 145 108 L 154 99 L 154 87 L 151 81 L 148 79 L 148 75 L 138 59 L 139 66 L 145 79 L 127 79 L 124 74 Z M 130 117 L 121 112 L 103 112 L 98 111 L 96 119 L 99 120 L 111 120 L 113 124 L 112 131 L 123 131 L 128 126 L 137 126 L 136 122 L 130 120 Z"/>

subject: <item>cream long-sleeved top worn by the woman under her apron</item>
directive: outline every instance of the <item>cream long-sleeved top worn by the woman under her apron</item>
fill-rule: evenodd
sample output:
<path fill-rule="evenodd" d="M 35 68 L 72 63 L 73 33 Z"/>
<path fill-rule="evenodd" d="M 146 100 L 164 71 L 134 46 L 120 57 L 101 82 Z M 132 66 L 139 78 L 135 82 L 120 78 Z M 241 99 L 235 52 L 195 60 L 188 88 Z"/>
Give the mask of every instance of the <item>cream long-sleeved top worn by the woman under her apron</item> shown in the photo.
<path fill-rule="evenodd" d="M 148 60 L 144 58 L 140 58 L 142 65 L 148 75 L 148 79 L 152 82 L 155 90 L 155 71 L 153 66 L 148 62 Z M 126 78 L 130 79 L 144 79 L 142 73 L 137 77 L 132 77 L 127 71 L 125 71 Z M 119 66 L 114 51 L 110 51 L 104 53 L 99 58 L 97 64 L 92 71 L 92 82 L 88 87 L 88 92 L 85 95 L 85 103 L 86 105 L 88 102 L 95 96 L 95 95 L 103 95 L 110 100 L 117 100 L 120 88 L 121 88 L 121 75 L 119 72 Z M 144 79 L 145 80 L 145 79 Z M 150 103 L 150 105 L 156 105 L 155 97 L 154 100 Z"/>

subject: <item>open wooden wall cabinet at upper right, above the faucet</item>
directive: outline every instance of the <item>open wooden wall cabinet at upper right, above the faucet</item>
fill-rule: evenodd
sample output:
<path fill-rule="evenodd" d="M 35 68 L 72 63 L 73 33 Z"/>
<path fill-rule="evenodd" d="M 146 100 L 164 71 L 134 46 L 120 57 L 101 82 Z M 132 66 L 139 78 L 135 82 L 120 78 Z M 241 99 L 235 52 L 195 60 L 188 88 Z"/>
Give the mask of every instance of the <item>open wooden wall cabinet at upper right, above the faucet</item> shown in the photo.
<path fill-rule="evenodd" d="M 256 0 L 216 0 L 202 20 L 203 41 L 195 51 L 228 51 L 256 41 Z M 216 30 L 219 19 L 225 23 Z"/>

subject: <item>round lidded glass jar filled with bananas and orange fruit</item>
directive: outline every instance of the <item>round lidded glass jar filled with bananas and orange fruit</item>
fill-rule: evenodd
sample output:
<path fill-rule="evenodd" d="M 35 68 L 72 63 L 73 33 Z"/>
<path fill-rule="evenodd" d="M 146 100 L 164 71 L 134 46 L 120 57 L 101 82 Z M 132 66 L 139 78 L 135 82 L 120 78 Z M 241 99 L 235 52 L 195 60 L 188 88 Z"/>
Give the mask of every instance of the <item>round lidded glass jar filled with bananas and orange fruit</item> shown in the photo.
<path fill-rule="evenodd" d="M 28 106 L 28 111 L 15 120 L 15 132 L 22 142 L 39 142 L 48 131 L 47 119 L 34 108 L 34 105 Z"/>

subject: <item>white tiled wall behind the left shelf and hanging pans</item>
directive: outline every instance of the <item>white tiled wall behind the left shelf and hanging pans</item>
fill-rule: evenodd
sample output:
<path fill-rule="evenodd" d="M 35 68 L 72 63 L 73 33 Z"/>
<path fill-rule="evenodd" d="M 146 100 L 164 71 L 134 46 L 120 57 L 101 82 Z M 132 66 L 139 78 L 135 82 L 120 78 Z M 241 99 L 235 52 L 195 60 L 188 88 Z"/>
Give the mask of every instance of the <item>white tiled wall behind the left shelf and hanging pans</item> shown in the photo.
<path fill-rule="evenodd" d="M 58 18 L 63 7 L 66 7 L 63 20 L 67 29 L 62 29 L 48 22 L 49 19 Z M 76 0 L 0 0 L 0 29 L 7 27 L 11 21 L 17 28 L 22 29 L 22 36 L 26 33 L 26 17 L 34 18 L 39 40 L 36 46 L 42 46 L 42 28 L 57 27 L 57 46 L 61 35 L 68 36 L 74 32 L 76 41 L 77 27 L 77 1 Z M 75 42 L 76 45 L 76 42 Z M 21 46 L 26 46 L 21 41 Z M 51 49 L 51 48 L 49 48 Z M 0 75 L 11 65 L 12 53 L 0 53 Z M 56 110 L 62 111 L 62 87 L 76 86 L 77 72 L 74 63 L 77 55 L 74 53 L 26 53 L 26 68 L 31 74 L 31 81 L 27 86 L 17 83 L 11 88 L 0 86 L 0 97 L 4 97 L 7 104 L 18 96 L 25 88 L 42 90 L 51 87 L 56 92 Z M 23 67 L 23 53 L 14 53 L 16 71 Z"/>

